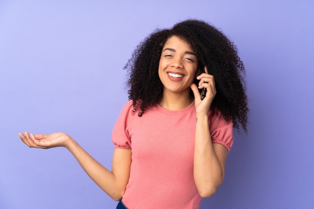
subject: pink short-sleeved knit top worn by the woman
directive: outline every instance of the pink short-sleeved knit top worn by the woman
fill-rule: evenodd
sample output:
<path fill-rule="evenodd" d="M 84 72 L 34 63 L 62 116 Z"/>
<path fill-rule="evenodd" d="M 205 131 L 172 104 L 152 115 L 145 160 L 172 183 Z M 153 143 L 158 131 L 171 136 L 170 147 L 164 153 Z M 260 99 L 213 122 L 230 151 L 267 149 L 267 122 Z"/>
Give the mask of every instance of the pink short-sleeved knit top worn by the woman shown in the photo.
<path fill-rule="evenodd" d="M 155 105 L 141 117 L 132 109 L 132 101 L 128 101 L 112 132 L 115 148 L 132 149 L 123 203 L 129 209 L 199 208 L 202 197 L 193 177 L 194 102 L 179 111 Z M 212 141 L 229 152 L 232 122 L 209 112 L 209 129 Z"/>

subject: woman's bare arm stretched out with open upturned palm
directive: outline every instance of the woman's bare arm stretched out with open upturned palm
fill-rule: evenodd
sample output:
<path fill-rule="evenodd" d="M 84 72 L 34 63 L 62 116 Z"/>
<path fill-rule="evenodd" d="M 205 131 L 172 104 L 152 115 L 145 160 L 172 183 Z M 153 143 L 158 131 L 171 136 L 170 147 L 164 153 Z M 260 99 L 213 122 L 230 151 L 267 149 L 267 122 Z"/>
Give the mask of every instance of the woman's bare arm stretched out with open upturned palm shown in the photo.
<path fill-rule="evenodd" d="M 22 141 L 29 147 L 48 149 L 66 147 L 77 159 L 89 177 L 112 199 L 118 201 L 124 194 L 129 179 L 131 149 L 115 148 L 112 157 L 112 171 L 105 168 L 88 154 L 71 136 L 65 133 L 25 134 L 19 133 Z"/>

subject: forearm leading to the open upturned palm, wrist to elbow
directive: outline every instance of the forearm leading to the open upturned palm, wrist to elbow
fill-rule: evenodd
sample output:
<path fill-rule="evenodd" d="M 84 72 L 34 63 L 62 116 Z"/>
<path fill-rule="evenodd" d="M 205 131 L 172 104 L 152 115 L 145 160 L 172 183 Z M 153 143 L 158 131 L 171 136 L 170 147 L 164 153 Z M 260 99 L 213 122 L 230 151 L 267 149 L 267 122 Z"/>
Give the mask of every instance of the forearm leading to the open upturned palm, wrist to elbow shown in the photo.
<path fill-rule="evenodd" d="M 119 200 L 125 187 L 117 182 L 114 173 L 96 161 L 75 140 L 70 141 L 66 148 L 74 155 L 89 177 L 111 198 Z"/>

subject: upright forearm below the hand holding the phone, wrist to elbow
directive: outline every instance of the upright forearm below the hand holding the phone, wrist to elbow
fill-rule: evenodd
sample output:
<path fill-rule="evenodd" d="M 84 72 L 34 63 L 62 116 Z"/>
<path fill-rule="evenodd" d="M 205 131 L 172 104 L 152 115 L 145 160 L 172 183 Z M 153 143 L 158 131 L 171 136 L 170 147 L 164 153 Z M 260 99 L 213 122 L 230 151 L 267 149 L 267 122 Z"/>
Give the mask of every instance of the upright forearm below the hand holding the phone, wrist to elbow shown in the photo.
<path fill-rule="evenodd" d="M 201 196 L 215 193 L 224 178 L 224 169 L 215 153 L 208 116 L 197 115 L 194 149 L 194 180 Z"/>

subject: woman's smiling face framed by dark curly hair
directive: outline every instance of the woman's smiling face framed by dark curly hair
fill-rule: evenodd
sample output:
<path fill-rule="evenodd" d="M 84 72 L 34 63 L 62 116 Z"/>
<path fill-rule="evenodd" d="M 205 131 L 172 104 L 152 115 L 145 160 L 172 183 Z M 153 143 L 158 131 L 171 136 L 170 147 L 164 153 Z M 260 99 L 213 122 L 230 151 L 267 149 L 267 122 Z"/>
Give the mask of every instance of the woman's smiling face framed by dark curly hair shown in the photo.
<path fill-rule="evenodd" d="M 190 45 L 177 36 L 165 43 L 159 61 L 159 78 L 165 93 L 187 93 L 198 69 L 196 54 Z"/>

